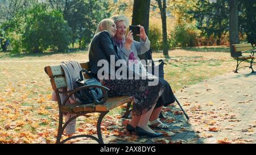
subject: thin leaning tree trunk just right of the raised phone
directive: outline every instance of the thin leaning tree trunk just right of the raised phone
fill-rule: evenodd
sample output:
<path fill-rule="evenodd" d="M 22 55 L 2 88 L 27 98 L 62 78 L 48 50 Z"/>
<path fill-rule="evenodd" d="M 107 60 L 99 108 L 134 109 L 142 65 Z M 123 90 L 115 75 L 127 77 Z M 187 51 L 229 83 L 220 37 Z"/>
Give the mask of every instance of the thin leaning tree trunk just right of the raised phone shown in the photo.
<path fill-rule="evenodd" d="M 168 55 L 168 40 L 167 40 L 167 26 L 166 26 L 166 0 L 163 0 L 163 5 L 161 0 L 157 0 L 158 7 L 160 9 L 161 19 L 162 19 L 162 31 L 163 31 L 163 55 Z"/>

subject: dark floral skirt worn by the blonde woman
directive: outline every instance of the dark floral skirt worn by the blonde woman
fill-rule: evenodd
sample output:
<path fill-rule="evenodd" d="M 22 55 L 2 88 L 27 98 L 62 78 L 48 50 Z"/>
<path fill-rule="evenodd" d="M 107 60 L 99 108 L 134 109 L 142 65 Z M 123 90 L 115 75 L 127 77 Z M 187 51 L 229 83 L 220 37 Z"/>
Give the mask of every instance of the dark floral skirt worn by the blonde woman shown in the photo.
<path fill-rule="evenodd" d="M 150 79 L 103 79 L 101 83 L 110 89 L 109 97 L 132 96 L 132 115 L 139 116 L 150 110 L 164 91 L 161 82 L 156 86 L 149 86 L 149 81 Z"/>

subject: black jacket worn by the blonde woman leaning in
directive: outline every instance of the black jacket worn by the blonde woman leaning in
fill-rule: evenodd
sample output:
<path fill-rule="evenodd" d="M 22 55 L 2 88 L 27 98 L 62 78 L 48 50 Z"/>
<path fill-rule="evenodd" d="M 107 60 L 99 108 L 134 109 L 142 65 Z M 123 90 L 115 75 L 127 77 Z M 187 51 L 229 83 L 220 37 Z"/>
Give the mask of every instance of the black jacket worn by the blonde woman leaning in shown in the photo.
<path fill-rule="evenodd" d="M 108 61 L 110 69 L 110 55 L 113 55 L 115 57 L 115 62 L 119 60 L 119 57 L 117 55 L 117 46 L 114 44 L 112 37 L 109 35 L 109 32 L 102 31 L 93 37 L 89 49 L 90 69 L 94 77 L 97 77 L 98 70 L 102 68 L 101 66 L 97 66 L 98 61 Z M 116 71 L 118 68 L 120 67 L 115 66 L 114 70 Z M 127 68 L 127 65 L 126 69 L 128 74 L 129 70 Z"/>

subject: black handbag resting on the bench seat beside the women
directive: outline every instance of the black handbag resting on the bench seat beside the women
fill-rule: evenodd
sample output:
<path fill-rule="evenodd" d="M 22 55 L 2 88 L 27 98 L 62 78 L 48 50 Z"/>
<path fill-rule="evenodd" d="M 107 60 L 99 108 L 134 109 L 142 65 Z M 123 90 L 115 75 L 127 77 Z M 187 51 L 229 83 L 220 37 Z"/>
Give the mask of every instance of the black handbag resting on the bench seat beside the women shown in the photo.
<path fill-rule="evenodd" d="M 84 76 L 82 73 L 86 73 L 90 78 L 84 79 Z M 97 81 L 96 78 L 93 78 L 92 74 L 90 74 L 86 69 L 82 69 L 80 71 L 80 78 L 75 81 L 77 87 L 81 86 L 87 86 L 87 85 L 99 85 L 101 86 L 101 83 Z M 75 96 L 79 98 L 79 100 L 83 104 L 88 103 L 95 103 L 95 104 L 103 104 L 104 103 L 104 94 L 100 88 L 90 88 L 90 89 L 83 89 L 80 91 L 77 91 L 75 93 Z"/>

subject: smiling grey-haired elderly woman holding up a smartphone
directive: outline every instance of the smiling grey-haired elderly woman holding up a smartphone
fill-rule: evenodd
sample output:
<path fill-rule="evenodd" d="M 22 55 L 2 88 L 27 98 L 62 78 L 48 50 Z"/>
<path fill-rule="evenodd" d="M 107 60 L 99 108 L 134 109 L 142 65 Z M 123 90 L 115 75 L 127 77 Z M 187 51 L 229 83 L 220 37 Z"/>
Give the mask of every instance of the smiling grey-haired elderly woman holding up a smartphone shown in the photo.
<path fill-rule="evenodd" d="M 117 33 L 113 37 L 113 40 L 118 47 L 118 56 L 127 62 L 130 60 L 137 60 L 140 62 L 141 60 L 139 60 L 138 55 L 142 55 L 150 49 L 150 40 L 146 35 L 144 27 L 138 25 L 140 31 L 139 35 L 137 34 L 137 36 L 140 37 L 140 41 L 138 42 L 133 40 L 133 32 L 129 31 L 126 36 L 129 19 L 125 15 L 115 15 L 112 16 L 112 19 L 117 26 Z M 144 70 L 146 69 L 142 66 L 140 72 L 144 72 Z M 175 97 L 171 86 L 166 80 L 159 78 L 159 82 L 164 85 L 166 90 L 164 90 L 162 96 L 158 99 L 155 109 L 150 116 L 148 125 L 151 127 L 167 129 L 168 125 L 162 123 L 158 118 L 163 106 L 174 103 Z M 130 124 L 134 126 L 136 122 L 130 122 Z"/>

